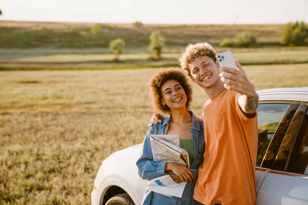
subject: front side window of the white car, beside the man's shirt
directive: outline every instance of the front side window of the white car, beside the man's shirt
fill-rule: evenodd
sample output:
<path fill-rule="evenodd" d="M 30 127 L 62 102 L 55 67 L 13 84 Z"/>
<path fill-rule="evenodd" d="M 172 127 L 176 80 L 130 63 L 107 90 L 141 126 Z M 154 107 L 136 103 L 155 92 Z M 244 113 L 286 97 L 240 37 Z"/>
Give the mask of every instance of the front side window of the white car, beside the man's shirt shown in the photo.
<path fill-rule="evenodd" d="M 280 122 L 287 121 L 290 123 L 292 116 L 295 112 L 295 105 L 290 104 L 259 104 L 258 107 L 258 153 L 257 153 L 257 167 L 261 167 L 265 153 L 271 143 L 273 136 L 280 125 Z M 283 126 L 281 129 L 287 129 L 287 126 Z M 285 132 L 285 131 L 284 131 Z M 283 136 L 282 136 L 283 138 Z M 281 139 L 282 140 L 282 139 Z M 271 154 L 267 155 L 266 160 L 276 157 L 278 148 L 274 148 Z M 277 151 L 277 152 L 276 152 Z"/>

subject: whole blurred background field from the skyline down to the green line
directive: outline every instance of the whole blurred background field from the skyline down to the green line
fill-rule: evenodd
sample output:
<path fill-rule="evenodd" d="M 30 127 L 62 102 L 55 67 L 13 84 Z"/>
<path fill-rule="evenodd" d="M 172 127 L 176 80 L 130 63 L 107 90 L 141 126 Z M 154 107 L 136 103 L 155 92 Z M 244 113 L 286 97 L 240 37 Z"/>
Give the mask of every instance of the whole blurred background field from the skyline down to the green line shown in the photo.
<path fill-rule="evenodd" d="M 281 45 L 285 27 L 285 24 L 142 24 L 136 27 L 134 24 L 0 21 L 0 70 L 25 67 L 48 70 L 49 66 L 69 69 L 177 66 L 185 47 L 198 42 L 212 44 L 217 52 L 232 50 L 242 65 L 308 63 L 307 39 L 301 47 Z M 162 36 L 159 57 L 149 52 L 152 32 L 160 32 Z M 236 39 L 237 34 L 243 32 L 253 34 L 257 44 L 249 48 L 220 47 L 222 39 Z M 119 58 L 109 49 L 109 43 L 118 38 L 125 42 Z"/>

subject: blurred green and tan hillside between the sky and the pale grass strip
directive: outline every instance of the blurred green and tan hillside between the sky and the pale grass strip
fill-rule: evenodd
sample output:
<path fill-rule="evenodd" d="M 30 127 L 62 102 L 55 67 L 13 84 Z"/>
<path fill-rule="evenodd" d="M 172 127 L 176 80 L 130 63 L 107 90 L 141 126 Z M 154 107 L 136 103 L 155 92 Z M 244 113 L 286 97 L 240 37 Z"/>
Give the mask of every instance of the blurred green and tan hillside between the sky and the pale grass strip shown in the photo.
<path fill-rule="evenodd" d="M 101 24 L 101 32 L 92 35 L 93 23 L 40 23 L 0 21 L 0 48 L 108 48 L 115 38 L 123 38 L 127 47 L 146 47 L 152 31 L 160 31 L 166 46 L 210 42 L 218 45 L 224 37 L 233 38 L 242 31 L 252 32 L 262 45 L 279 45 L 281 25 L 144 25 Z"/>

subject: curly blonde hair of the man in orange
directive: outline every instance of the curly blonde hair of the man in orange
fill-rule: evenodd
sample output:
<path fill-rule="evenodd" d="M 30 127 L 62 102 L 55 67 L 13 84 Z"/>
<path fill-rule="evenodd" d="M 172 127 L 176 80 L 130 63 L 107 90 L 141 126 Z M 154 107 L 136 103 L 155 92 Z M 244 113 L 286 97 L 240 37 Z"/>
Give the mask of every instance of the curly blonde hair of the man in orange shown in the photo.
<path fill-rule="evenodd" d="M 208 56 L 214 61 L 214 63 L 216 63 L 216 51 L 210 44 L 206 42 L 194 45 L 188 44 L 185 52 L 182 54 L 179 60 L 181 68 L 183 68 L 189 76 L 191 76 L 189 64 L 194 62 L 196 57 L 200 56 Z"/>

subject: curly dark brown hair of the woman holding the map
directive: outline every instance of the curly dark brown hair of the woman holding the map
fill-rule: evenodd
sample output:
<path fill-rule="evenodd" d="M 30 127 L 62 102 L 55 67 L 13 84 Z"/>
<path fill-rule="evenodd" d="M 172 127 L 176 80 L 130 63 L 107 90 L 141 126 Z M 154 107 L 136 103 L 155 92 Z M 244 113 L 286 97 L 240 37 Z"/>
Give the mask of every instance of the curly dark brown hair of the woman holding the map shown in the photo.
<path fill-rule="evenodd" d="M 161 104 L 161 87 L 167 80 L 177 80 L 181 84 L 187 96 L 186 108 L 187 110 L 189 109 L 192 100 L 192 88 L 186 76 L 179 68 L 168 68 L 160 70 L 149 80 L 148 86 L 152 94 L 152 108 L 154 111 L 171 114 L 170 108 L 167 105 L 163 108 Z"/>

